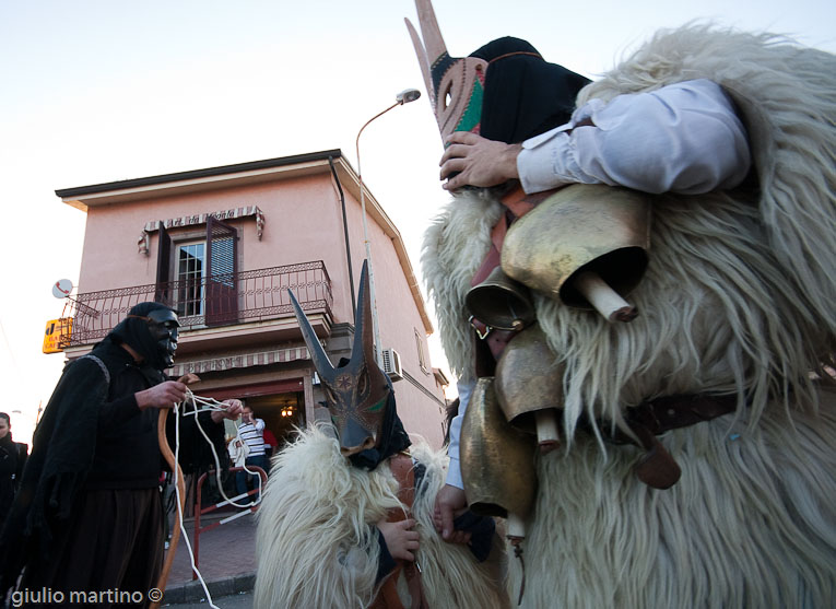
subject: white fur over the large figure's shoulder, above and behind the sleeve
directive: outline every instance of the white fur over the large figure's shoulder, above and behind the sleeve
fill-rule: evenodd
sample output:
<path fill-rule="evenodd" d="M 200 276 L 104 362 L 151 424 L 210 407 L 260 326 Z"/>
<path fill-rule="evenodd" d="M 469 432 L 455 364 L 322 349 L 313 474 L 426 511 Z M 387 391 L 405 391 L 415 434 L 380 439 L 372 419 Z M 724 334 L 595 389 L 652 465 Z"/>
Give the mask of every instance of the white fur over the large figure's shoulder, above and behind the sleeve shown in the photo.
<path fill-rule="evenodd" d="M 836 336 L 836 55 L 774 34 L 692 24 L 662 30 L 578 95 L 609 101 L 707 78 L 749 131 L 766 238 L 792 278 L 800 315 Z"/>

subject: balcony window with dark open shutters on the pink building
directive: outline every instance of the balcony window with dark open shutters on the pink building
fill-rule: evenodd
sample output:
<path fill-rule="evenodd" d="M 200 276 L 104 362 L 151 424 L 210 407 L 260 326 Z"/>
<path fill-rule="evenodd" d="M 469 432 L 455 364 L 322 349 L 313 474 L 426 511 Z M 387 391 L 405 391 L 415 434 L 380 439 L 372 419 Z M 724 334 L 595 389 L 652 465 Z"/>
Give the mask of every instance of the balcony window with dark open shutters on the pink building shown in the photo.
<path fill-rule="evenodd" d="M 207 326 L 237 321 L 237 231 L 211 216 L 201 235 L 173 234 L 161 226 L 156 300 L 180 316 L 203 317 Z"/>

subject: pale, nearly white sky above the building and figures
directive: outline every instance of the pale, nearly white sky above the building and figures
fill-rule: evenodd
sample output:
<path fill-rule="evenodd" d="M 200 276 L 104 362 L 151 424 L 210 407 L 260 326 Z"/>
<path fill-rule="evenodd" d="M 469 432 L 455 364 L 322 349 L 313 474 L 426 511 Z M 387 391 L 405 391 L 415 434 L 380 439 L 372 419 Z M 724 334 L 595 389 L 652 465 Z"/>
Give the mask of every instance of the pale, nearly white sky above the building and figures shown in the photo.
<path fill-rule="evenodd" d="M 434 7 L 452 56 L 511 35 L 590 78 L 657 28 L 695 19 L 836 51 L 833 1 Z M 363 132 L 361 156 L 364 181 L 421 279 L 422 234 L 448 197 L 403 17 L 417 26 L 411 0 L 0 0 L 0 410 L 16 440 L 30 441 L 38 402 L 46 405 L 63 365 L 61 354 L 42 353 L 46 321 L 63 306 L 50 288 L 58 279 L 76 284 L 81 263 L 85 216 L 56 189 L 337 148 L 356 168 L 360 128 L 416 87 L 421 99 Z M 446 371 L 437 336 L 431 348 L 433 365 Z"/>

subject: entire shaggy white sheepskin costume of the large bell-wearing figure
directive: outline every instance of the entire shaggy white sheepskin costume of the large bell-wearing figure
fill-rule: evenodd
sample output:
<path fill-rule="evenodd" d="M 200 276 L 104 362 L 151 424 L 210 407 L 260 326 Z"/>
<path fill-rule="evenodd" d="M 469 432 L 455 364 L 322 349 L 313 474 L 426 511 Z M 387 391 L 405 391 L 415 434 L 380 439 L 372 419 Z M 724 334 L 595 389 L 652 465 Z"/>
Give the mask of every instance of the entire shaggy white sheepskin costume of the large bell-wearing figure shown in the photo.
<path fill-rule="evenodd" d="M 737 103 L 757 184 L 648 196 L 633 323 L 535 295 L 565 366 L 566 442 L 538 458 L 522 607 L 836 606 L 836 394 L 823 372 L 836 353 L 836 58 L 690 25 L 658 34 L 579 103 L 699 78 Z M 425 236 L 441 339 L 466 379 L 464 295 L 502 209 L 487 190 L 457 196 Z M 639 448 L 578 429 L 584 415 L 623 429 L 627 407 L 695 394 L 737 395 L 738 410 L 660 436 L 682 468 L 669 490 L 635 477 Z"/>

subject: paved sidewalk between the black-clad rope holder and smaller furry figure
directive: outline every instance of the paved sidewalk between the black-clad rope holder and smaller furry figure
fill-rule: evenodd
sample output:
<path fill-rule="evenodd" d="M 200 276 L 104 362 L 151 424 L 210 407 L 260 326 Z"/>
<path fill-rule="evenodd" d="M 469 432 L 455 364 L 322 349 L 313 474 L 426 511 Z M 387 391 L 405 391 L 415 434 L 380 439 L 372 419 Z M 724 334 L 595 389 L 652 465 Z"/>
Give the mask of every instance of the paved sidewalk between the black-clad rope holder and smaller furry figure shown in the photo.
<path fill-rule="evenodd" d="M 205 527 L 232 513 L 223 513 L 212 518 L 202 516 L 200 524 Z M 185 520 L 189 543 L 195 548 L 195 520 Z M 252 590 L 256 578 L 256 519 L 247 514 L 227 524 L 217 526 L 200 535 L 200 554 L 198 569 L 207 582 L 212 598 L 224 597 Z M 199 581 L 192 581 L 191 561 L 186 539 L 180 541 L 168 574 L 163 604 L 199 602 L 205 598 Z"/>

